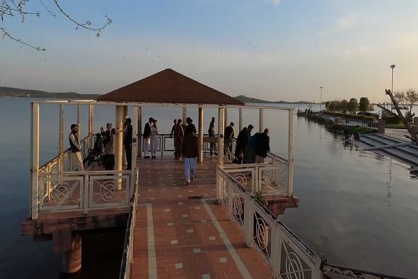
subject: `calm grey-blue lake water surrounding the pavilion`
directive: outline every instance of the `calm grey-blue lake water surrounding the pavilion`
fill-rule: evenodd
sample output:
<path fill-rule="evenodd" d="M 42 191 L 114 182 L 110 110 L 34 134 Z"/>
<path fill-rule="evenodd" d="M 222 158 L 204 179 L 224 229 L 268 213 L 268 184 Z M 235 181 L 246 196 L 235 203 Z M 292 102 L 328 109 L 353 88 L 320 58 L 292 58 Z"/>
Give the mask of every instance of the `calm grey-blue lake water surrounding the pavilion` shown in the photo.
<path fill-rule="evenodd" d="M 39 100 L 39 99 L 38 99 Z M 52 243 L 33 243 L 20 236 L 20 224 L 29 216 L 30 100 L 0 98 L 0 274 L 1 278 L 56 279 L 61 276 L 61 255 Z M 287 105 L 295 107 L 297 105 Z M 304 110 L 305 106 L 300 105 Z M 313 107 L 319 110 L 319 105 Z M 65 133 L 75 122 L 77 108 L 65 106 Z M 197 123 L 197 109 L 187 114 Z M 217 110 L 205 110 L 205 127 Z M 143 108 L 143 119 L 158 119 L 160 133 L 169 133 L 181 109 Z M 58 105 L 41 105 L 40 163 L 58 153 Z M 87 107 L 82 106 L 81 137 L 87 133 Z M 95 107 L 95 131 L 114 123 L 114 107 Z M 272 152 L 287 156 L 287 112 L 265 111 Z M 228 121 L 238 127 L 238 110 L 228 111 Z M 258 111 L 246 110 L 245 125 L 258 130 Z M 295 116 L 294 191 L 297 209 L 287 209 L 281 220 L 309 247 L 322 252 L 328 262 L 356 269 L 416 278 L 418 273 L 418 178 L 409 166 L 375 153 L 346 145 L 325 128 Z M 238 130 L 236 128 L 235 130 Z M 65 146 L 68 145 L 64 141 Z M 123 232 L 105 231 L 86 236 L 83 273 L 65 278 L 94 278 L 94 269 L 106 266 L 118 273 Z M 108 254 L 95 249 L 112 243 Z M 101 268 L 101 267 L 100 267 Z"/>

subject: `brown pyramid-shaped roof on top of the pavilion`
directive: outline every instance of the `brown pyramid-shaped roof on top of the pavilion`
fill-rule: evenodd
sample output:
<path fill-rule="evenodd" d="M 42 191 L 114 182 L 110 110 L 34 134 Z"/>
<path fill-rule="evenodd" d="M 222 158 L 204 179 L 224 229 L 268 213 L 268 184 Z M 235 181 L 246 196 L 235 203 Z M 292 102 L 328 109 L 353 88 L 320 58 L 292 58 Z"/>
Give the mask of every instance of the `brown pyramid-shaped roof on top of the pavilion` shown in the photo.
<path fill-rule="evenodd" d="M 97 98 L 98 101 L 125 103 L 184 103 L 201 105 L 244 105 L 175 70 L 165 69 Z"/>

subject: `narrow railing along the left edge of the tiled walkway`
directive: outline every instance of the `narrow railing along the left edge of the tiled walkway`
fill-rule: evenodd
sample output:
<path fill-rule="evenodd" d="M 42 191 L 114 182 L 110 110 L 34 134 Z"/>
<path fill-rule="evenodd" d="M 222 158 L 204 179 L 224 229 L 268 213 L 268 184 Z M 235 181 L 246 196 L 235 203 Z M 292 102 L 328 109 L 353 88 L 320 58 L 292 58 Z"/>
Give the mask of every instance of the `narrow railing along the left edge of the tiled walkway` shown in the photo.
<path fill-rule="evenodd" d="M 132 264 L 132 252 L 134 246 L 134 230 L 135 219 L 137 216 L 137 204 L 138 204 L 138 169 L 135 169 L 135 186 L 132 194 L 132 204 L 130 205 L 129 215 L 127 218 L 125 242 L 123 243 L 123 255 L 121 261 L 121 271 L 119 273 L 119 279 L 129 279 L 131 264 Z"/>

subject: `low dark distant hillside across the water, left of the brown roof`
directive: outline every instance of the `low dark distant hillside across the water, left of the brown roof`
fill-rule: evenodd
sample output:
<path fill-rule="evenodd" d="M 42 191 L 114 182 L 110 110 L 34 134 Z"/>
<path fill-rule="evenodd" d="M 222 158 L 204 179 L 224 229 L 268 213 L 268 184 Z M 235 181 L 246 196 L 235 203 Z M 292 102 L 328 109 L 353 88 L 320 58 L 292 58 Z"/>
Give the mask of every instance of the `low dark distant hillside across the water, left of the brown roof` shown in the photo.
<path fill-rule="evenodd" d="M 45 92 L 38 90 L 18 89 L 11 87 L 0 87 L 0 97 L 20 98 L 59 98 L 59 99 L 95 99 L 100 94 L 79 94 L 75 92 Z"/>

